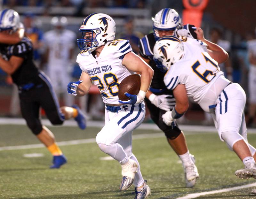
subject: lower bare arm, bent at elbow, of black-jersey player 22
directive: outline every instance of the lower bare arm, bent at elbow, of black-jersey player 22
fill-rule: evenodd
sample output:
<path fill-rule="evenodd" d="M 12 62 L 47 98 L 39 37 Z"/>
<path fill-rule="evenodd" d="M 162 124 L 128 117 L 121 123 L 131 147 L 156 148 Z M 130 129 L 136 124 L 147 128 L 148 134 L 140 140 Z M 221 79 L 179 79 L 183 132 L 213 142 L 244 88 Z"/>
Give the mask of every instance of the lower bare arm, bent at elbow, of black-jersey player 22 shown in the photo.
<path fill-rule="evenodd" d="M 17 57 L 17 56 L 12 56 L 9 61 L 4 60 L 0 56 L 0 68 L 7 74 L 12 74 L 14 73 L 22 64 L 23 58 Z"/>

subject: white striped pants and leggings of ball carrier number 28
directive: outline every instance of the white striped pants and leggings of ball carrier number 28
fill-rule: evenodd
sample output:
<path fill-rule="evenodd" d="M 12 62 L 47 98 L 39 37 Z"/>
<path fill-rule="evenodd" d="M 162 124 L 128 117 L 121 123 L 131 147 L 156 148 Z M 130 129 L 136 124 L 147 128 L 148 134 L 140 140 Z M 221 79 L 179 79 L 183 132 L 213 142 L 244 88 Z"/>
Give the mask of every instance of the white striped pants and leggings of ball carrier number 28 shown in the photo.
<path fill-rule="evenodd" d="M 121 162 L 124 157 L 135 160 L 137 158 L 132 154 L 132 131 L 143 122 L 145 118 L 145 103 L 121 105 L 120 110 L 116 107 L 107 107 L 105 110 L 105 126 L 96 136 L 96 142 L 101 145 L 115 147 L 100 147 L 100 149 L 111 157 Z M 118 145 L 117 145 L 117 144 Z M 107 149 L 108 148 L 108 149 Z M 115 150 L 115 151 L 109 151 Z M 117 151 L 118 150 L 118 151 Z M 125 154 L 122 155 L 123 151 Z M 117 157 L 118 156 L 118 157 Z M 144 183 L 140 172 L 140 167 L 135 174 L 133 184 L 139 187 Z"/>

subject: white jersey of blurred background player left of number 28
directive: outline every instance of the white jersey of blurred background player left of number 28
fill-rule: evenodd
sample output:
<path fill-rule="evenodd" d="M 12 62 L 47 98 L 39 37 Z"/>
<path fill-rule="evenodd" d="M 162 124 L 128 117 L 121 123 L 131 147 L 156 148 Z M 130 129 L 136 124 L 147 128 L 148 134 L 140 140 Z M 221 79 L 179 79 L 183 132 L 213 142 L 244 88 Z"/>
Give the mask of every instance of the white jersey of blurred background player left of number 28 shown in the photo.
<path fill-rule="evenodd" d="M 44 40 L 49 48 L 48 64 L 54 67 L 67 67 L 70 49 L 75 46 L 76 34 L 70 30 L 50 30 L 44 34 Z"/>

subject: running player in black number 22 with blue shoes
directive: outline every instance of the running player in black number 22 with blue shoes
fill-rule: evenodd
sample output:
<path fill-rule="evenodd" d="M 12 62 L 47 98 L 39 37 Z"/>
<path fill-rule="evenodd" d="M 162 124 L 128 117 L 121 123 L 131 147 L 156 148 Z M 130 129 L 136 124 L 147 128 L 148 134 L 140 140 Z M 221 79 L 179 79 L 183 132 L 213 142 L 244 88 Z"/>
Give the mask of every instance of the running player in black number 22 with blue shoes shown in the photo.
<path fill-rule="evenodd" d="M 84 129 L 85 118 L 76 106 L 59 106 L 51 81 L 33 62 L 31 40 L 26 36 L 20 39 L 19 34 L 16 34 L 22 27 L 16 11 L 0 11 L 0 42 L 4 42 L 0 44 L 0 68 L 12 76 L 13 82 L 19 88 L 20 110 L 28 127 L 52 153 L 53 165 L 50 168 L 60 168 L 67 160 L 52 132 L 41 124 L 40 107 L 53 125 L 61 125 L 65 119 L 75 118 L 78 126 Z"/>

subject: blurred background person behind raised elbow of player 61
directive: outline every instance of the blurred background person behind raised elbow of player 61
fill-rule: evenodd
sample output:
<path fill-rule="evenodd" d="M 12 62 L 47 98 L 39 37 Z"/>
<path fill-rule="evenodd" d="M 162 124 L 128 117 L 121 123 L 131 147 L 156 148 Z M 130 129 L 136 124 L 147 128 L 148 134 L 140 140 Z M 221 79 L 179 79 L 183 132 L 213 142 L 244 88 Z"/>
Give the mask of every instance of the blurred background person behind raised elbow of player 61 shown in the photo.
<path fill-rule="evenodd" d="M 218 28 L 212 28 L 210 30 L 210 41 L 213 43 L 218 44 L 220 47 L 222 47 L 224 50 L 226 50 L 228 52 L 228 54 L 230 55 L 230 42 L 226 41 L 226 40 L 222 40 L 222 32 L 220 29 Z M 225 63 L 219 64 L 220 66 L 220 70 L 224 72 L 225 77 L 232 81 L 232 65 L 231 65 L 231 59 L 229 58 Z"/>

